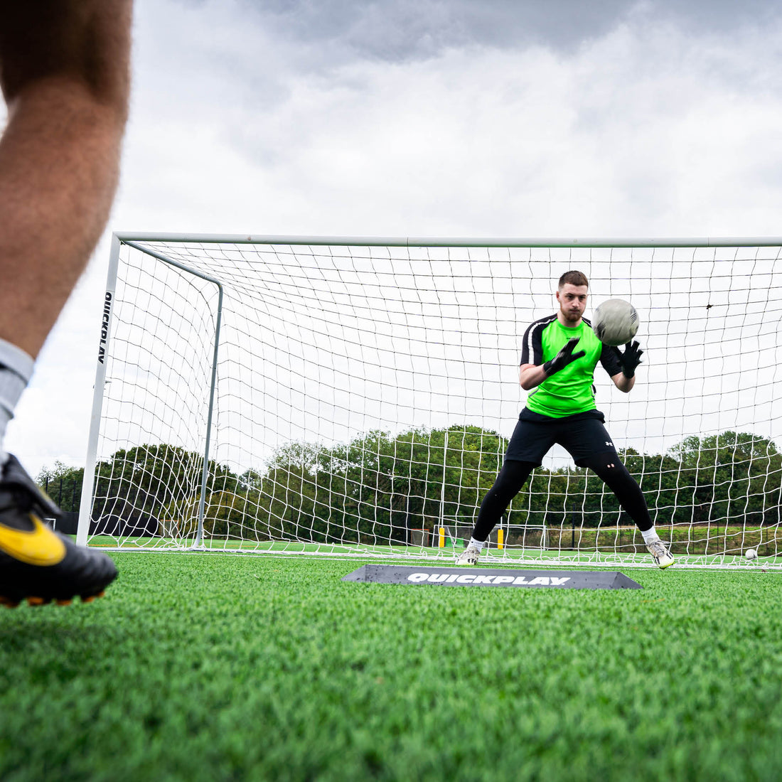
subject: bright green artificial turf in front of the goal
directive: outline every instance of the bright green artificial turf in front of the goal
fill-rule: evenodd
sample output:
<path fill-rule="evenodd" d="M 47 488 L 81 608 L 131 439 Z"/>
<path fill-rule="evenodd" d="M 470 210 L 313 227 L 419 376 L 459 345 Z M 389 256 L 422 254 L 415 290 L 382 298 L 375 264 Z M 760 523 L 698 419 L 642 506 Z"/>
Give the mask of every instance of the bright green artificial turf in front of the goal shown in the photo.
<path fill-rule="evenodd" d="M 3 782 L 782 777 L 778 572 L 533 590 L 112 556 L 101 601 L 0 613 Z"/>

